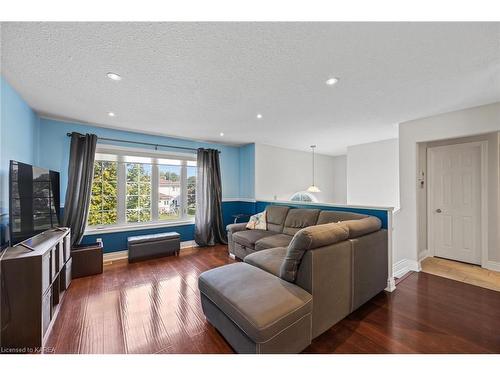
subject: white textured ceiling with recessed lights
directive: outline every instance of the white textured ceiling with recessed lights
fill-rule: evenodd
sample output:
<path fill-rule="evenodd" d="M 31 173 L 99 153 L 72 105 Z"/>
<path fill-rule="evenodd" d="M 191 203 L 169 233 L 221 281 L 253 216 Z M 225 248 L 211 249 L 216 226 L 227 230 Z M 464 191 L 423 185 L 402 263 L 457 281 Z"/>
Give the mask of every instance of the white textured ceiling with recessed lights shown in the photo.
<path fill-rule="evenodd" d="M 2 74 L 42 115 L 339 154 L 500 101 L 500 23 L 3 23 Z"/>

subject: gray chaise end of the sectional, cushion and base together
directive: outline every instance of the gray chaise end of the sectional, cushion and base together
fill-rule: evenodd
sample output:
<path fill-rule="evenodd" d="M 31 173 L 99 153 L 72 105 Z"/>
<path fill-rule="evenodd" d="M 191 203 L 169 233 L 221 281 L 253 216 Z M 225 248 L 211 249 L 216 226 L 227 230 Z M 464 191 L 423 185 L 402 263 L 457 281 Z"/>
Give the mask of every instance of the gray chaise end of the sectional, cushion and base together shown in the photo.
<path fill-rule="evenodd" d="M 299 353 L 311 343 L 312 296 L 246 263 L 203 272 L 203 312 L 238 353 Z"/>

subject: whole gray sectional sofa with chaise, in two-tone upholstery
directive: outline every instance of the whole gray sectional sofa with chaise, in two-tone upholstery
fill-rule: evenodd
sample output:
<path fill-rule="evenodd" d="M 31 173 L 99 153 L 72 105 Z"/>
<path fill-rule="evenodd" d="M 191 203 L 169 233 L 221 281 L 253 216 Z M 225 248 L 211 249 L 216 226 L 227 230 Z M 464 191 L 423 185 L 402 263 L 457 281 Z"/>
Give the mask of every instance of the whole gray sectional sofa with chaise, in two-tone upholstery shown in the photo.
<path fill-rule="evenodd" d="M 227 227 L 243 262 L 200 275 L 203 311 L 238 353 L 298 353 L 385 289 L 387 231 L 351 212 L 266 208 L 267 230 Z"/>

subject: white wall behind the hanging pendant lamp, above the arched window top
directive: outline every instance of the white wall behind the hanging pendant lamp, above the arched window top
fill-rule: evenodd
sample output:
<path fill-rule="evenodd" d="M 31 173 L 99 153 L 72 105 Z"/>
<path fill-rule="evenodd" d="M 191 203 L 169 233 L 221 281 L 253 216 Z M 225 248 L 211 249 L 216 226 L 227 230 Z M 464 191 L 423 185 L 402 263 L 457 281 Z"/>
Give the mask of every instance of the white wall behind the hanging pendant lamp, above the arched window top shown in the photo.
<path fill-rule="evenodd" d="M 342 160 L 334 156 L 315 155 L 315 184 L 319 202 L 341 203 Z M 293 193 L 306 190 L 312 183 L 312 154 L 263 144 L 255 145 L 255 198 L 257 200 L 289 200 Z M 340 191 L 340 193 L 339 193 Z M 342 195 L 344 194 L 344 195 Z M 345 203 L 345 202 L 344 202 Z"/>

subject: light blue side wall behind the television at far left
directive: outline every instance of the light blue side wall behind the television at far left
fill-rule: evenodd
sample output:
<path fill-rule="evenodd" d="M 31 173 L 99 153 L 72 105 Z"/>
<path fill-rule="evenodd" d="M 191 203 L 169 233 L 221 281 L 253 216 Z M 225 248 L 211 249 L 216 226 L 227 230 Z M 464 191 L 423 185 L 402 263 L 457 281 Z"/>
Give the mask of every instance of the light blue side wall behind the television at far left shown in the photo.
<path fill-rule="evenodd" d="M 0 245 L 5 245 L 9 213 L 9 161 L 37 163 L 39 118 L 0 76 Z"/>

